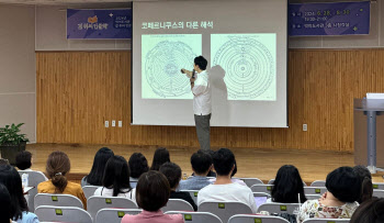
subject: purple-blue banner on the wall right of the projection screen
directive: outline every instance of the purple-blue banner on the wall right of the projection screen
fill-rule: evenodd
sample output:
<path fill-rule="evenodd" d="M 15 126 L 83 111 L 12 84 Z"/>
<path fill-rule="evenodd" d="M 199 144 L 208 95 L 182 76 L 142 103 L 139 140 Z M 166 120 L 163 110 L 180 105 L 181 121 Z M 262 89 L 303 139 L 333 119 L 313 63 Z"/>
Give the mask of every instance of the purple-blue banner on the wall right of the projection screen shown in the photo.
<path fill-rule="evenodd" d="M 370 1 L 289 4 L 289 35 L 370 34 Z"/>

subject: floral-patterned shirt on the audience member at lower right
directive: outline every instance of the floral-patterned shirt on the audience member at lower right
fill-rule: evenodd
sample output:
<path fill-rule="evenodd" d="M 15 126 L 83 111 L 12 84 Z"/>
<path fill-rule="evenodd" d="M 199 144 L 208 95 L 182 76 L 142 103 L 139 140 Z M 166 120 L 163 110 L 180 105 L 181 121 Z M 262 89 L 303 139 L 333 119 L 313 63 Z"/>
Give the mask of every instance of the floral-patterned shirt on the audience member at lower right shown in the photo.
<path fill-rule="evenodd" d="M 307 219 L 351 219 L 358 207 L 358 202 L 346 203 L 341 207 L 327 207 L 319 200 L 308 200 L 303 203 L 297 219 L 298 223 Z"/>

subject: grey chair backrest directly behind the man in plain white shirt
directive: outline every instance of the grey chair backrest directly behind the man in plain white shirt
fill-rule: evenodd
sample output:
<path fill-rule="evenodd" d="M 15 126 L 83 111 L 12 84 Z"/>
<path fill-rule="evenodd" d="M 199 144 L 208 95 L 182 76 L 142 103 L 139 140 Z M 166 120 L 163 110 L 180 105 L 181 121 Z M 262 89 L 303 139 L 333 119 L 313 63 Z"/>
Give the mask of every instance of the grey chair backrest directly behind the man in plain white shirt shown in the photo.
<path fill-rule="evenodd" d="M 241 202 L 203 202 L 197 209 L 200 212 L 210 212 L 217 215 L 224 223 L 236 214 L 252 214 L 252 210 Z"/>

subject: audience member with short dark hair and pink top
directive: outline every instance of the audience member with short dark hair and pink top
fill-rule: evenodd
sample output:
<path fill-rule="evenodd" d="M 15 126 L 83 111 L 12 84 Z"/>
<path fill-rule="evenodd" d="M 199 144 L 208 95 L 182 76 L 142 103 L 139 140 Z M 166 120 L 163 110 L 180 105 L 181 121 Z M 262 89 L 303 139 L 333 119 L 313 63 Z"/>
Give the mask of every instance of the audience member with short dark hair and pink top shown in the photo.
<path fill-rule="evenodd" d="M 169 182 L 161 172 L 143 174 L 136 187 L 137 205 L 143 212 L 125 215 L 122 223 L 183 223 L 181 214 L 163 214 L 160 210 L 168 202 L 169 191 Z"/>

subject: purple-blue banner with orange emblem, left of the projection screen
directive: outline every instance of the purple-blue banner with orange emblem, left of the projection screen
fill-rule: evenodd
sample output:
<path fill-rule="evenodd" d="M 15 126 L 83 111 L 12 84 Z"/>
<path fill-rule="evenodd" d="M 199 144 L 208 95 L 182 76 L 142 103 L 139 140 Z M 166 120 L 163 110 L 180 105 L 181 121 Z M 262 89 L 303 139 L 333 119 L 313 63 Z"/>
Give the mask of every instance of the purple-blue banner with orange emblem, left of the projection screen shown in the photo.
<path fill-rule="evenodd" d="M 131 37 L 131 9 L 67 10 L 67 38 L 124 40 Z"/>

